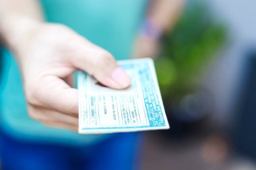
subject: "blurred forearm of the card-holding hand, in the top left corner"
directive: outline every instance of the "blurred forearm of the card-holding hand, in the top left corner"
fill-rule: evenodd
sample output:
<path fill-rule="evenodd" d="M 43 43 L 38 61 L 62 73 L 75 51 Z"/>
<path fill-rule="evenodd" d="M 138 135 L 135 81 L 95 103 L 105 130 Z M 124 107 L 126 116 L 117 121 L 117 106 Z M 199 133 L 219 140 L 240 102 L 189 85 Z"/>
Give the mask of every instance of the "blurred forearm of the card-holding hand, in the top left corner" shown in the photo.
<path fill-rule="evenodd" d="M 0 0 L 0 37 L 5 46 L 15 48 L 42 21 L 38 1 Z"/>

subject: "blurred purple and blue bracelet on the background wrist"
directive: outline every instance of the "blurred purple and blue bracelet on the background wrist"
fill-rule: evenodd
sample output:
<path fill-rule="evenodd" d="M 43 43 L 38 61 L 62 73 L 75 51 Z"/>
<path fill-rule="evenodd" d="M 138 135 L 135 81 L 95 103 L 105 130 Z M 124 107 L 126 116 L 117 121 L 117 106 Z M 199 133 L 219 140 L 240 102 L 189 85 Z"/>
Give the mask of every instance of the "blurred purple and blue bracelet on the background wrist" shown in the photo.
<path fill-rule="evenodd" d="M 152 19 L 150 18 L 147 18 L 143 22 L 140 33 L 152 40 L 158 40 L 161 36 L 160 29 L 156 26 L 156 24 L 154 24 L 154 22 L 152 22 Z"/>

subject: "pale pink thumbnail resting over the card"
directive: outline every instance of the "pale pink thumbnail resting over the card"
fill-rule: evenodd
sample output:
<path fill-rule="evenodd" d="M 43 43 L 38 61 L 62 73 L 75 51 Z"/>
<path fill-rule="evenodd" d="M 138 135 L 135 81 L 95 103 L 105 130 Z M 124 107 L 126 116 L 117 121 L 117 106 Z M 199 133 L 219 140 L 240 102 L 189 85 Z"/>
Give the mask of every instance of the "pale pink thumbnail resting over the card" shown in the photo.
<path fill-rule="evenodd" d="M 113 81 L 121 85 L 123 88 L 128 87 L 131 84 L 131 78 L 121 67 L 117 67 L 111 76 Z"/>

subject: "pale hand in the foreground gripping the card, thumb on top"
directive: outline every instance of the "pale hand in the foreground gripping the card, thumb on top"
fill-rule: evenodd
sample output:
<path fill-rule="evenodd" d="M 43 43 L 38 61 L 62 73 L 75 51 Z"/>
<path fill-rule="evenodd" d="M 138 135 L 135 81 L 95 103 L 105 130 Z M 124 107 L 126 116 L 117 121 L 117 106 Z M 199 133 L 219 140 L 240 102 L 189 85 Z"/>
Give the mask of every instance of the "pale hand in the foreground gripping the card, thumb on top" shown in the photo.
<path fill-rule="evenodd" d="M 77 131 L 78 94 L 71 87 L 75 70 L 115 89 L 131 82 L 109 52 L 65 26 L 30 24 L 12 48 L 22 71 L 28 112 L 46 126 Z"/>

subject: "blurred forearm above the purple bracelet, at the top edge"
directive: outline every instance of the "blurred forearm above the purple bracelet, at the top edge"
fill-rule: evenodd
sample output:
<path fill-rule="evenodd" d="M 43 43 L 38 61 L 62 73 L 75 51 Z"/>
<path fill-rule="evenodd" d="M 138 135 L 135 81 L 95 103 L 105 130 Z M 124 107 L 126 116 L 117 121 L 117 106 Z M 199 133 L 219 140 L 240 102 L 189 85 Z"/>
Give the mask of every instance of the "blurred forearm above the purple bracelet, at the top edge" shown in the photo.
<path fill-rule="evenodd" d="M 179 18 L 185 0 L 152 0 L 148 18 L 160 32 L 169 31 Z"/>

